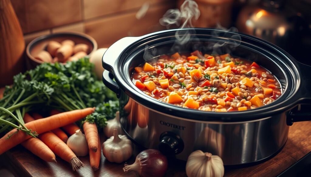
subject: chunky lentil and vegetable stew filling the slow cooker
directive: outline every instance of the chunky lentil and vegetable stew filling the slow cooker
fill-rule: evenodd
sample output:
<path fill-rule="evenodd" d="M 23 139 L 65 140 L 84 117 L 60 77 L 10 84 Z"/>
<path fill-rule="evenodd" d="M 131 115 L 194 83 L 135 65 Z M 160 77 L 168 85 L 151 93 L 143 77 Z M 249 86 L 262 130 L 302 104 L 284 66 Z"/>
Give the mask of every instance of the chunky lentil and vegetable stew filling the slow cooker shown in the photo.
<path fill-rule="evenodd" d="M 244 111 L 272 103 L 281 85 L 267 69 L 229 54 L 162 55 L 137 67 L 132 82 L 160 101 L 202 111 Z"/>

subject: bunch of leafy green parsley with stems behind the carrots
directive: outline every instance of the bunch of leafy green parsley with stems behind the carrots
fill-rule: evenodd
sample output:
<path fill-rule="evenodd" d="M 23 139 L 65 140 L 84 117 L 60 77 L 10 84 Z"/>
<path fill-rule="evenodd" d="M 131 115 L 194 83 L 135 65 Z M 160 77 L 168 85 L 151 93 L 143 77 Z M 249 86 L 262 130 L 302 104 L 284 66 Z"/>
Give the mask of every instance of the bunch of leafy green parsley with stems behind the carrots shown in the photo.
<path fill-rule="evenodd" d="M 66 64 L 44 63 L 24 74 L 14 76 L 12 86 L 6 86 L 0 100 L 0 133 L 9 127 L 20 128 L 35 136 L 24 127 L 26 112 L 42 108 L 71 111 L 96 107 L 95 112 L 83 121 L 95 122 L 99 131 L 113 118 L 118 110 L 114 92 L 98 81 L 93 72 L 94 65 L 88 58 Z"/>

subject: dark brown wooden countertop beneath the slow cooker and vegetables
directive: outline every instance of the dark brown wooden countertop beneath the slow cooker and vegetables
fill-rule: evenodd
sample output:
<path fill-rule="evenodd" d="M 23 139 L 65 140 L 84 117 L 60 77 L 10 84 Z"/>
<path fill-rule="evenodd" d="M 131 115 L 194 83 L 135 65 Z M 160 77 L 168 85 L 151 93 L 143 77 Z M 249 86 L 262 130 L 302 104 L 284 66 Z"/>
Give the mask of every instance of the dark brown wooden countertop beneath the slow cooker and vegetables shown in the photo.
<path fill-rule="evenodd" d="M 311 122 L 296 122 L 290 127 L 289 138 L 285 147 L 272 159 L 261 164 L 239 168 L 225 169 L 225 177 L 256 176 L 269 177 L 279 175 L 299 159 L 311 151 Z M 104 137 L 101 137 L 104 140 Z M 137 147 L 135 147 L 137 148 Z M 137 149 L 136 149 L 137 151 Z M 21 146 L 17 146 L 0 156 L 0 161 L 10 169 L 16 176 L 102 176 L 102 177 L 137 177 L 135 172 L 124 173 L 123 164 L 110 163 L 102 155 L 100 169 L 92 171 L 89 164 L 89 157 L 80 157 L 85 164 L 77 172 L 72 172 L 69 163 L 57 158 L 56 163 L 44 162 Z M 134 162 L 134 157 L 127 161 Z M 173 164 L 173 165 L 172 165 Z M 185 177 L 185 162 L 171 162 L 166 176 Z"/>

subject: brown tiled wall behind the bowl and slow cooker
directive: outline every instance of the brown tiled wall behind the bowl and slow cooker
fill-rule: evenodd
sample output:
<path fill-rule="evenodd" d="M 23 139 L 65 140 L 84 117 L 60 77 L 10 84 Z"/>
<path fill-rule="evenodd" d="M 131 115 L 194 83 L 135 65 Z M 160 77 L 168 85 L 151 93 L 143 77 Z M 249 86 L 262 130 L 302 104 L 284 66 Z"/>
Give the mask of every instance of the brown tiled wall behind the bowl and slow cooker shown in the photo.
<path fill-rule="evenodd" d="M 49 33 L 86 33 L 108 47 L 126 36 L 141 36 L 164 29 L 159 19 L 175 0 L 11 0 L 20 21 L 26 44 Z M 135 15 L 149 3 L 146 15 Z"/>

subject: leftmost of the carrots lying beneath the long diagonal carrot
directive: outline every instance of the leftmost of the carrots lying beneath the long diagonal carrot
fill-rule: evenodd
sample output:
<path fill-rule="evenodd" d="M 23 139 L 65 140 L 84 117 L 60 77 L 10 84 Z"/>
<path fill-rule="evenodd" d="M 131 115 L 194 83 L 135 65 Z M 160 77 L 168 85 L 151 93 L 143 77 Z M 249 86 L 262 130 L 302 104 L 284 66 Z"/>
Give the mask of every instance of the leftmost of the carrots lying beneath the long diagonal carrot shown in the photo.
<path fill-rule="evenodd" d="M 24 122 L 30 122 L 33 118 L 29 114 L 25 114 Z M 47 162 L 56 162 L 55 154 L 52 150 L 45 145 L 40 139 L 38 138 L 30 138 L 26 141 L 21 143 L 24 148 L 28 149 L 30 152 L 35 154 L 36 156 L 40 157 L 42 160 Z"/>

